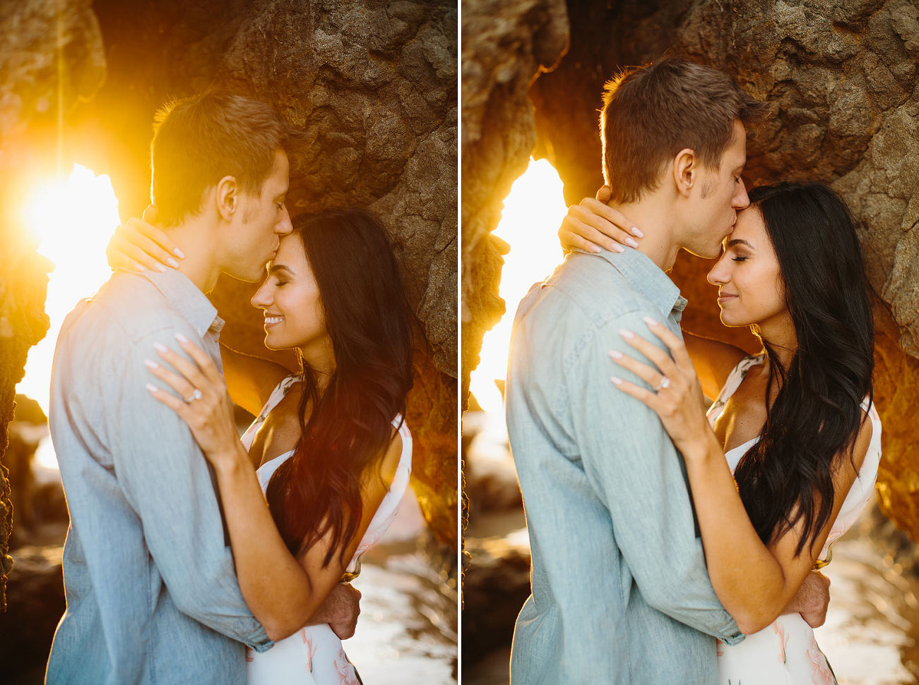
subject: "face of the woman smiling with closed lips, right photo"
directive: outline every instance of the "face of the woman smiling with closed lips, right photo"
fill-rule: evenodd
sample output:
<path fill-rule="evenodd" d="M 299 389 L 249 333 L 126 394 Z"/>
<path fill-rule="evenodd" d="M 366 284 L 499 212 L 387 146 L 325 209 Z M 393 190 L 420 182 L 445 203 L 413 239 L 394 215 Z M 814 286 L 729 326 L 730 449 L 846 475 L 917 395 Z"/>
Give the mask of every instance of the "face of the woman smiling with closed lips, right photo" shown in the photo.
<path fill-rule="evenodd" d="M 734 230 L 722 243 L 724 252 L 709 271 L 709 283 L 718 286 L 718 306 L 725 326 L 790 321 L 778 259 L 766 234 L 759 208 L 737 215 Z"/>

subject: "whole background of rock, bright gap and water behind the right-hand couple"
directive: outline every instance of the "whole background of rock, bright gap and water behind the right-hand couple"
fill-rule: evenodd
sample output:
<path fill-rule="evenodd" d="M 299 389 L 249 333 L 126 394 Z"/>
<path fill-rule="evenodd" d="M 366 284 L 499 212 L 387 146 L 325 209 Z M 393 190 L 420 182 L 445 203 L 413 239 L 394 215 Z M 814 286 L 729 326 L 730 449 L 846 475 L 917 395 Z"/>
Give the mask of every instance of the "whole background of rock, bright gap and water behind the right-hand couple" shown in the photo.
<path fill-rule="evenodd" d="M 875 501 L 834 544 L 826 624 L 840 683 L 919 682 L 919 8 L 909 0 L 510 0 L 462 3 L 463 682 L 506 683 L 529 545 L 501 393 L 510 322 L 562 261 L 567 205 L 603 179 L 597 113 L 618 69 L 674 49 L 771 107 L 748 140 L 748 187 L 829 183 L 861 223 L 875 296 L 875 400 L 883 459 Z M 720 326 L 710 263 L 671 274 L 684 328 Z"/>

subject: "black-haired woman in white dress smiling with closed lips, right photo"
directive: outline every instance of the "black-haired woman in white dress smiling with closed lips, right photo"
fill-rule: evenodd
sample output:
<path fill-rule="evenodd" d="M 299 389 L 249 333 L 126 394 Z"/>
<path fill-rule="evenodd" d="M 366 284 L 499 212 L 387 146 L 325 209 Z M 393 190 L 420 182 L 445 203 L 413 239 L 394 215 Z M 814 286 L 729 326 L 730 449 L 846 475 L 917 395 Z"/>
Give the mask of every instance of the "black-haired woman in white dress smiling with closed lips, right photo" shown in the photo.
<path fill-rule="evenodd" d="M 750 202 L 708 278 L 721 321 L 750 326 L 763 352 L 688 333 L 684 343 L 648 320 L 670 354 L 620 331 L 637 354 L 610 356 L 652 389 L 611 380 L 658 414 L 686 462 L 712 586 L 747 634 L 719 645 L 720 682 L 834 683 L 810 626 L 779 614 L 874 487 L 871 307 L 855 226 L 832 190 L 772 185 Z M 608 237 L 634 244 L 618 223 Z M 568 230 L 593 241 L 593 229 L 569 219 L 560 235 L 573 246 Z M 707 418 L 703 393 L 716 398 Z"/>

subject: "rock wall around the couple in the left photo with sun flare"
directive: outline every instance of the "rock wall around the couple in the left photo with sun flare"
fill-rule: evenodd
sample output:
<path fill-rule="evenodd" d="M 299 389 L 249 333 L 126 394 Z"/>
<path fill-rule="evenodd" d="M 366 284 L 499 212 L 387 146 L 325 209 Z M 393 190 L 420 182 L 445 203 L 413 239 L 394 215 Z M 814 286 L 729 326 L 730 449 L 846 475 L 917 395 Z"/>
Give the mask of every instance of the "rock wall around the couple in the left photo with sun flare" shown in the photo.
<path fill-rule="evenodd" d="M 456 7 L 0 0 L 0 10 L 0 174 L 9 199 L 0 224 L 0 445 L 28 347 L 47 330 L 48 264 L 22 235 L 16 200 L 59 162 L 78 162 L 111 176 L 122 218 L 139 216 L 149 201 L 155 109 L 221 84 L 266 100 L 301 131 L 289 151 L 291 213 L 360 205 L 390 232 L 417 316 L 406 417 L 413 486 L 432 532 L 455 549 Z M 264 352 L 250 295 L 228 281 L 215 300 L 240 321 L 252 351 Z M 0 502 L 5 488 L 0 476 Z M 0 503 L 0 559 L 9 523 Z"/>

